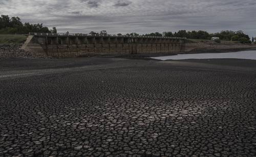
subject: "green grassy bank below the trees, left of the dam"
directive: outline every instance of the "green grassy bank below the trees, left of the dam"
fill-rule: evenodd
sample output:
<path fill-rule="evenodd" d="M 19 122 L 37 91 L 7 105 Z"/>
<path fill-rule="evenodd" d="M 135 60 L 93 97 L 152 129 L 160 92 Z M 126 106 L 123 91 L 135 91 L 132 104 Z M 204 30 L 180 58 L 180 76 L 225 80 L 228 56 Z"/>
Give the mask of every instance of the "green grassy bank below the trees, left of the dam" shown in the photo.
<path fill-rule="evenodd" d="M 0 44 L 20 44 L 25 42 L 27 39 L 26 35 L 1 35 Z"/>

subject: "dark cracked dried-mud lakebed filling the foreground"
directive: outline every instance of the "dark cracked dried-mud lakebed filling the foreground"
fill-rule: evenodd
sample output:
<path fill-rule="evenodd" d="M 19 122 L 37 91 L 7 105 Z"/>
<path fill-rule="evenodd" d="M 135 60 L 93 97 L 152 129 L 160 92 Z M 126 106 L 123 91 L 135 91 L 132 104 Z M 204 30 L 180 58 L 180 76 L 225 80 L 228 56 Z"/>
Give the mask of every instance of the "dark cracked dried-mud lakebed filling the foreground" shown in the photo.
<path fill-rule="evenodd" d="M 254 65 L 1 60 L 0 156 L 255 156 Z"/>

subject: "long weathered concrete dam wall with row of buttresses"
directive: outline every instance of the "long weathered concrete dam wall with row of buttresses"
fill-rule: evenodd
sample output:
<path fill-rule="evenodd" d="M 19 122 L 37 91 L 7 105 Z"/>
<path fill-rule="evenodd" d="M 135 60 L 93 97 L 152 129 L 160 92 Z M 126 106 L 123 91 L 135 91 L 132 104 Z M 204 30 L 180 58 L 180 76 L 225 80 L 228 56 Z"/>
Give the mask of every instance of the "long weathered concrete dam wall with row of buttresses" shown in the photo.
<path fill-rule="evenodd" d="M 185 38 L 30 33 L 23 49 L 55 58 L 113 54 L 172 54 L 185 50 Z"/>

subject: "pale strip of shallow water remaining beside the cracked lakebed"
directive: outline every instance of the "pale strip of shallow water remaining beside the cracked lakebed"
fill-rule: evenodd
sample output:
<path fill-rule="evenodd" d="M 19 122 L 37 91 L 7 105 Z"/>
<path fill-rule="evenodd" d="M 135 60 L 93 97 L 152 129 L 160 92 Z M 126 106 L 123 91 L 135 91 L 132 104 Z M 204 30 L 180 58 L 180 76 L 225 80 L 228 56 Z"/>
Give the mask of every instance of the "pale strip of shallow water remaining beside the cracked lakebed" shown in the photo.
<path fill-rule="evenodd" d="M 253 59 L 256 60 L 256 51 L 240 51 L 229 53 L 199 53 L 199 54 L 179 54 L 175 56 L 151 57 L 159 60 L 182 60 L 182 59 L 218 59 L 218 58 L 235 58 L 235 59 Z"/>

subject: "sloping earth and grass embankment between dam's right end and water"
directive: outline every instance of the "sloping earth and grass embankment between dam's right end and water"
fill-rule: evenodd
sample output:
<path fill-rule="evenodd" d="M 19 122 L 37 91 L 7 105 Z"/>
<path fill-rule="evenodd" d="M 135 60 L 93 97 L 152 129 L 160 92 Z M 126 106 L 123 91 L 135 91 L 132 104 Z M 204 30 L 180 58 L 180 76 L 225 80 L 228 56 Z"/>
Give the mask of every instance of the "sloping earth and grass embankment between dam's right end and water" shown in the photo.
<path fill-rule="evenodd" d="M 221 43 L 217 43 L 212 40 L 187 40 L 184 52 L 224 52 L 245 49 L 256 49 L 256 44 L 244 44 L 234 41 L 221 41 Z"/>

